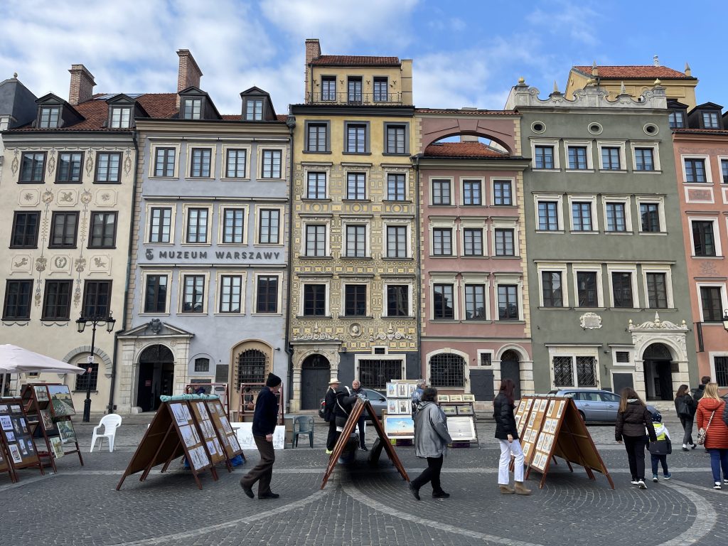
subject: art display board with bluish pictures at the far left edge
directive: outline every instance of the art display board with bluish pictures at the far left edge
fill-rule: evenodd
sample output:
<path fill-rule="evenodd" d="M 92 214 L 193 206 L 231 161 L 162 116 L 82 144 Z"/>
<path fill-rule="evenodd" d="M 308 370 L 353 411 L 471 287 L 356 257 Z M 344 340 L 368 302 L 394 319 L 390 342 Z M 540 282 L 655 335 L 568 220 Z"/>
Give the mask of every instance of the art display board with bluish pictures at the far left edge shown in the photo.
<path fill-rule="evenodd" d="M 0 472 L 8 472 L 14 483 L 21 468 L 38 467 L 45 473 L 22 398 L 0 398 L 0 459 Z"/>

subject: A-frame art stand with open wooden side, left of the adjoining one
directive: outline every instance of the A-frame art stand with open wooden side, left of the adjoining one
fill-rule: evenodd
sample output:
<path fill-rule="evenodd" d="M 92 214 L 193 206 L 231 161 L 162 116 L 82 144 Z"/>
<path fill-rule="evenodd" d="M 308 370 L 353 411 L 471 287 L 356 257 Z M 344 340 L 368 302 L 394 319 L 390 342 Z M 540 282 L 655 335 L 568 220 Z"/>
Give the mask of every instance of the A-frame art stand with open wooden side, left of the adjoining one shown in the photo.
<path fill-rule="evenodd" d="M 139 481 L 144 481 L 153 467 L 163 464 L 162 472 L 165 472 L 170 463 L 181 456 L 185 456 L 189 462 L 198 488 L 202 489 L 199 474 L 203 470 L 210 469 L 213 480 L 218 479 L 213 462 L 207 454 L 205 434 L 193 417 L 191 403 L 197 402 L 199 400 L 162 401 L 127 470 L 116 485 L 116 491 L 122 487 L 127 476 L 142 472 Z"/>

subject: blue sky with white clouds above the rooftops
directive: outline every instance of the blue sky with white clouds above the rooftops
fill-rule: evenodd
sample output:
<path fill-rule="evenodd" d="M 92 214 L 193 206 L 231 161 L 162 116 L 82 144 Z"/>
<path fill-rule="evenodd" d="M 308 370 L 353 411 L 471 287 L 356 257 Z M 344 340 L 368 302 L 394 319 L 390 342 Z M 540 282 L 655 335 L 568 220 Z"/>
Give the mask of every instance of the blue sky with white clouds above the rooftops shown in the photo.
<path fill-rule="evenodd" d="M 37 96 L 68 96 L 71 64 L 96 92 L 175 92 L 178 57 L 191 50 L 202 89 L 224 114 L 240 92 L 270 92 L 279 113 L 303 100 L 304 40 L 325 55 L 414 60 L 414 101 L 430 108 L 502 108 L 519 76 L 542 95 L 563 90 L 569 68 L 652 64 L 700 79 L 698 103 L 728 106 L 724 1 L 488 0 L 3 0 L 0 79 L 19 74 Z M 659 9 L 659 11 L 657 10 Z M 713 14 L 701 18 L 697 15 Z M 691 29 L 700 29 L 691 33 Z"/>

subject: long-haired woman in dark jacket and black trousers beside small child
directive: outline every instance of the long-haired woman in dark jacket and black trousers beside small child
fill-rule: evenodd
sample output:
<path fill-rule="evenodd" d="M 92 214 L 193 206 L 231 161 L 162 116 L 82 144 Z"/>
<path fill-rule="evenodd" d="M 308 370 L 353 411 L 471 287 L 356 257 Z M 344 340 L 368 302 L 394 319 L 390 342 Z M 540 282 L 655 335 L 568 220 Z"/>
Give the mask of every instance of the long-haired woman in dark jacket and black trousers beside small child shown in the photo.
<path fill-rule="evenodd" d="M 652 414 L 630 387 L 622 390 L 620 409 L 617 411 L 617 425 L 614 427 L 614 439 L 625 443 L 627 459 L 630 462 L 632 485 L 646 489 L 644 483 L 644 449 L 647 446 L 647 435 L 650 442 L 656 442 L 652 426 Z"/>

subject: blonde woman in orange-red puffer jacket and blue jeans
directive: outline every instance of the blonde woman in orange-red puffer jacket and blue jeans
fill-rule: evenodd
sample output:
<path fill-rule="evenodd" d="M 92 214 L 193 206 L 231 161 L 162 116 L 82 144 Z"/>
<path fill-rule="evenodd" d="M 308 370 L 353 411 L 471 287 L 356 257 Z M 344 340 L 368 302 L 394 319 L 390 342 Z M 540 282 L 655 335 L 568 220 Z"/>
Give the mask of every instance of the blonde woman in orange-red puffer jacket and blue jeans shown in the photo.
<path fill-rule="evenodd" d="M 705 385 L 705 394 L 697 403 L 697 428 L 705 429 L 705 449 L 711 454 L 713 470 L 713 489 L 721 488 L 721 468 L 723 485 L 728 486 L 728 427 L 723 422 L 725 400 L 718 396 L 718 384 Z"/>

